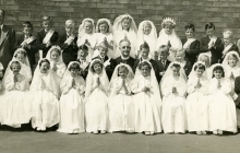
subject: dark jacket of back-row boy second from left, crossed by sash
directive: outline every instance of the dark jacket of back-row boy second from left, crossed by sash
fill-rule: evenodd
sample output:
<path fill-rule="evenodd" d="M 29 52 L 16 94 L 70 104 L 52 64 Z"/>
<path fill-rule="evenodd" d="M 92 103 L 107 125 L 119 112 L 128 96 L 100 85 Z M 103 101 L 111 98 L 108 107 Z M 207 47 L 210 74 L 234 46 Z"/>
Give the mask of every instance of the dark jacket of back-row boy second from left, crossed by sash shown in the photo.
<path fill-rule="evenodd" d="M 41 30 L 37 33 L 37 38 L 36 38 L 36 48 L 38 50 L 43 50 L 43 57 L 45 58 L 48 50 L 51 48 L 51 46 L 46 47 L 46 44 L 43 44 L 43 40 L 46 36 L 45 30 Z M 55 32 L 50 38 L 50 43 L 51 45 L 57 45 L 57 40 L 58 40 L 58 32 Z"/>

